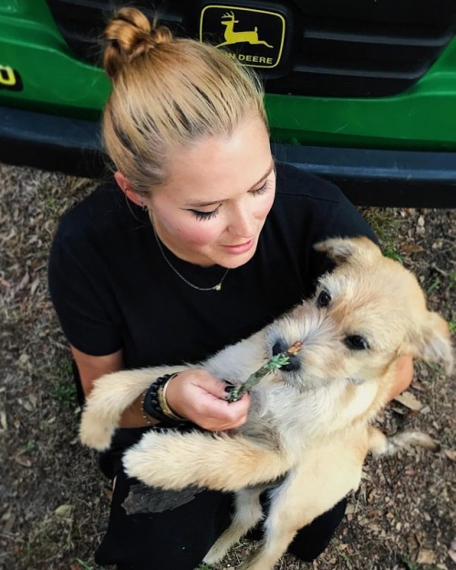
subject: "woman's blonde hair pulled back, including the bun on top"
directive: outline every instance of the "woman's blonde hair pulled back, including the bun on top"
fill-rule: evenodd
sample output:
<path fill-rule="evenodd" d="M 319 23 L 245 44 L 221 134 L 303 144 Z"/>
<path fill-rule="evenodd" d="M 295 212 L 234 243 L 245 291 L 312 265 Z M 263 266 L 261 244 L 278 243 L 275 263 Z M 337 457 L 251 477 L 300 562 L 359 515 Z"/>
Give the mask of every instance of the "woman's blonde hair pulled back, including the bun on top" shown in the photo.
<path fill-rule="evenodd" d="M 173 151 L 205 137 L 230 137 L 252 116 L 267 124 L 259 80 L 216 47 L 174 38 L 131 7 L 111 18 L 104 38 L 113 89 L 103 139 L 136 192 L 166 181 Z"/>

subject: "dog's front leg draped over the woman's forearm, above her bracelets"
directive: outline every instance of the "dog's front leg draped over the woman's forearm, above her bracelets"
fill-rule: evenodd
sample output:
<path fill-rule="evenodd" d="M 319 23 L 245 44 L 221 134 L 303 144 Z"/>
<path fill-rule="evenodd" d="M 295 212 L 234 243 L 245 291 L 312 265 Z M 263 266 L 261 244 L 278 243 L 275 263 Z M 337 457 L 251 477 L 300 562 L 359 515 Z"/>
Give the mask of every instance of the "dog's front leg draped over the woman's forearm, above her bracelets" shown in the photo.
<path fill-rule="evenodd" d="M 128 409 L 155 378 L 180 368 L 121 370 L 98 378 L 82 412 L 79 437 L 84 445 L 98 451 L 109 448 L 122 413 Z"/>

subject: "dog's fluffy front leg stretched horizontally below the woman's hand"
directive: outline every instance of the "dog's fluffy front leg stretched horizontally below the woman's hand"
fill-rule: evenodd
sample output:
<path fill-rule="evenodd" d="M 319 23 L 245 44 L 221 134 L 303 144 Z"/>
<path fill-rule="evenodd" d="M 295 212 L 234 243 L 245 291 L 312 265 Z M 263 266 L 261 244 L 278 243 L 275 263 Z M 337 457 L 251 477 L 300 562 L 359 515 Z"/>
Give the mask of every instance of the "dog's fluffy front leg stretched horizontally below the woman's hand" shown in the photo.
<path fill-rule="evenodd" d="M 123 464 L 130 477 L 162 489 L 179 490 L 196 484 L 239 491 L 274 481 L 293 461 L 242 436 L 150 431 L 125 453 Z"/>

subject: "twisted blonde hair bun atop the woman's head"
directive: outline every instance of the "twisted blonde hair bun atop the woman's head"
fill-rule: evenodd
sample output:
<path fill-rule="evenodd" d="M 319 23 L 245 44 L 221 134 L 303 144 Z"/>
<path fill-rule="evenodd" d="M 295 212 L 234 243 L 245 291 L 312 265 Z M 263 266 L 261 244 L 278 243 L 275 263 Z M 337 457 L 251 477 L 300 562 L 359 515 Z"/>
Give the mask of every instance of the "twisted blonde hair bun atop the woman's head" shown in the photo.
<path fill-rule="evenodd" d="M 103 66 L 110 78 L 115 78 L 121 67 L 136 57 L 173 39 L 166 26 L 151 26 L 140 10 L 130 7 L 120 8 L 111 17 L 103 37 L 107 43 Z"/>

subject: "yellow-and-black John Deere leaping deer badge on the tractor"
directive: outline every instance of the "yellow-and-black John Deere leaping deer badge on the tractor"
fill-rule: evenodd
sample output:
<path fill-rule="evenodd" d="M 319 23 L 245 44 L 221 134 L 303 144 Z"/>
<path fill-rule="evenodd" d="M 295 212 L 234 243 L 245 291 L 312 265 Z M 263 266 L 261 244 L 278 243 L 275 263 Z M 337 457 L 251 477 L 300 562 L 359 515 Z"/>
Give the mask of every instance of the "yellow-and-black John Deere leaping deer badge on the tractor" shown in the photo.
<path fill-rule="evenodd" d="M 250 67 L 275 67 L 282 57 L 285 18 L 275 12 L 208 5 L 202 9 L 200 41 L 229 47 L 229 55 Z"/>

